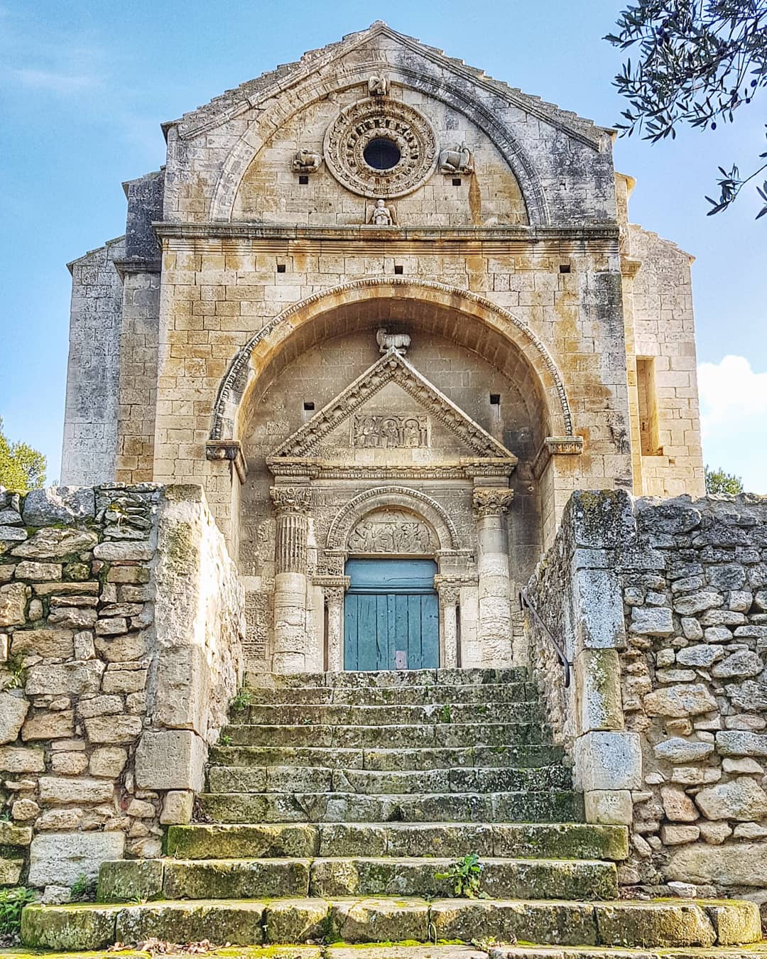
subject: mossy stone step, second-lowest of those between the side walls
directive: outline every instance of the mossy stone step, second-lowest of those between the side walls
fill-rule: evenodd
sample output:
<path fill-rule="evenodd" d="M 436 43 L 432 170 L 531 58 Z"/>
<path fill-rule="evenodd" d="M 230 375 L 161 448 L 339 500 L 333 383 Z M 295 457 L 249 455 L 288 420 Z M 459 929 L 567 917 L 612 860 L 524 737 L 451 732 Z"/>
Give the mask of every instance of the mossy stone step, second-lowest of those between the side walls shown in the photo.
<path fill-rule="evenodd" d="M 563 765 L 537 768 L 427 769 L 375 772 L 325 769 L 321 766 L 211 766 L 211 792 L 517 792 L 523 789 L 569 789 Z"/>

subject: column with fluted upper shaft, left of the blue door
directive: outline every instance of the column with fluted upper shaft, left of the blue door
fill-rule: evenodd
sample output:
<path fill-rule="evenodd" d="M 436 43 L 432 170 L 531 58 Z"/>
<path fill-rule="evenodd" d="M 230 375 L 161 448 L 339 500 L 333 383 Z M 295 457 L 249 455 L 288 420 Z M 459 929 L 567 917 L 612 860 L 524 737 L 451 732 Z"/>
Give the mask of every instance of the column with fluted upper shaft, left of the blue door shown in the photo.
<path fill-rule="evenodd" d="M 277 514 L 274 545 L 274 672 L 306 667 L 306 541 L 312 493 L 308 486 L 272 486 Z"/>

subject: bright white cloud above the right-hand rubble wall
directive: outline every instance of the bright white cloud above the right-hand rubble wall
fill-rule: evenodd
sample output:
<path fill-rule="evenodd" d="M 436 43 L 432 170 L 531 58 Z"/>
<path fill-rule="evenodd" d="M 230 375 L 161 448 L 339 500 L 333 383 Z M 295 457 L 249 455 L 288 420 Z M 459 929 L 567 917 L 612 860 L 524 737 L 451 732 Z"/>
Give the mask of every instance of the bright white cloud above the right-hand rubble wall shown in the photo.
<path fill-rule="evenodd" d="M 698 366 L 703 455 L 711 467 L 742 477 L 747 490 L 767 493 L 767 372 L 746 357 Z"/>

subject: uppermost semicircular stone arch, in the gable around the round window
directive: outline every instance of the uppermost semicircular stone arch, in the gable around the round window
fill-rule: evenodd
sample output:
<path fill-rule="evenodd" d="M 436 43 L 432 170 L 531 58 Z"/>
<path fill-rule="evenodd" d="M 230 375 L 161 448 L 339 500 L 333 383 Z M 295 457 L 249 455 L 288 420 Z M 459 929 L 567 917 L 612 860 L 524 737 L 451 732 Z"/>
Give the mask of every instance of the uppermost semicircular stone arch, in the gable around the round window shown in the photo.
<path fill-rule="evenodd" d="M 245 171 L 275 129 L 307 106 L 351 86 L 366 83 L 371 72 L 380 68 L 381 64 L 371 59 L 356 64 L 354 68 L 330 73 L 325 78 L 310 77 L 269 101 L 267 108 L 245 130 L 224 160 L 211 201 L 210 219 L 215 222 L 231 220 Z M 517 177 L 530 225 L 546 226 L 550 222 L 546 195 L 535 167 L 512 131 L 500 121 L 497 114 L 470 96 L 465 88 L 446 85 L 439 78 L 431 78 L 428 74 L 408 69 L 406 66 L 398 65 L 392 68 L 389 77 L 393 82 L 401 82 L 435 100 L 441 100 L 463 113 L 481 129 L 495 144 Z"/>

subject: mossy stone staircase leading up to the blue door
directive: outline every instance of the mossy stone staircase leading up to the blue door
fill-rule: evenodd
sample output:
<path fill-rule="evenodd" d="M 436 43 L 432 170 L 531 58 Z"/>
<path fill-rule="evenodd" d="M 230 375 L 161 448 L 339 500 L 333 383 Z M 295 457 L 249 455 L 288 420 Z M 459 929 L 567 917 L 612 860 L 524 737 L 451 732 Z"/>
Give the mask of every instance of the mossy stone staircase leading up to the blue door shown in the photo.
<path fill-rule="evenodd" d="M 211 751 L 196 824 L 168 830 L 167 857 L 105 863 L 97 903 L 28 906 L 26 946 L 154 937 L 343 959 L 334 944 L 468 957 L 497 942 L 521 959 L 641 959 L 760 940 L 753 903 L 617 898 L 627 830 L 582 822 L 523 669 L 260 674 L 248 690 Z M 486 898 L 438 877 L 470 854 Z"/>

